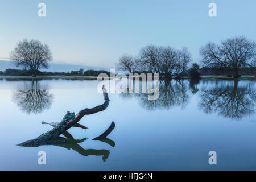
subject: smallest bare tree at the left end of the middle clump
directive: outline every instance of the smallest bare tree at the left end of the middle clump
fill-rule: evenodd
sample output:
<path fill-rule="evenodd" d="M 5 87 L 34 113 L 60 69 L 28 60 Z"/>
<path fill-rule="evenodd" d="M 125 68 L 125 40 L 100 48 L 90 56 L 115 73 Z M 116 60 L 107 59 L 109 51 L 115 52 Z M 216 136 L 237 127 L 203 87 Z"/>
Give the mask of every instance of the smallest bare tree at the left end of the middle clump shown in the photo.
<path fill-rule="evenodd" d="M 122 71 L 129 71 L 130 73 L 133 73 L 139 67 L 139 59 L 132 55 L 124 54 L 119 58 L 115 67 Z"/>

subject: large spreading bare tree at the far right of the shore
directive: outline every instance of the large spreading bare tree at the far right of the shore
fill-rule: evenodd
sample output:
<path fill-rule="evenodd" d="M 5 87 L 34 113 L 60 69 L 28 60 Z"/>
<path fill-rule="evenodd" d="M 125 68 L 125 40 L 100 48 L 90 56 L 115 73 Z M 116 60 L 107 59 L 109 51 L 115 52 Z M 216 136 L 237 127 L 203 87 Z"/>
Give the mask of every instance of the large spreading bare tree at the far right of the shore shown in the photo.
<path fill-rule="evenodd" d="M 255 67 L 256 43 L 238 36 L 222 41 L 221 44 L 209 42 L 200 48 L 201 62 L 208 67 L 231 68 L 234 77 L 240 77 L 239 69 Z"/>

